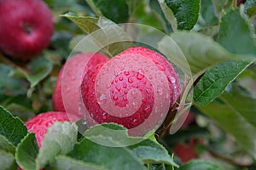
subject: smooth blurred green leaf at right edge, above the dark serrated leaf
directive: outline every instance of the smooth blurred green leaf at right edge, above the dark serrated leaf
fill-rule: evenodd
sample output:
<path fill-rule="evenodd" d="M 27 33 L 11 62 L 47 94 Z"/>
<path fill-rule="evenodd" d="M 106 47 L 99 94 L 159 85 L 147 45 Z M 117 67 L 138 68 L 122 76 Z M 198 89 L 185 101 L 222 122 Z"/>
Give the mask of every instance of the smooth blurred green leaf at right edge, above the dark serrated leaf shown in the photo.
<path fill-rule="evenodd" d="M 230 10 L 221 20 L 218 42 L 233 54 L 256 54 L 253 32 L 239 9 Z"/>

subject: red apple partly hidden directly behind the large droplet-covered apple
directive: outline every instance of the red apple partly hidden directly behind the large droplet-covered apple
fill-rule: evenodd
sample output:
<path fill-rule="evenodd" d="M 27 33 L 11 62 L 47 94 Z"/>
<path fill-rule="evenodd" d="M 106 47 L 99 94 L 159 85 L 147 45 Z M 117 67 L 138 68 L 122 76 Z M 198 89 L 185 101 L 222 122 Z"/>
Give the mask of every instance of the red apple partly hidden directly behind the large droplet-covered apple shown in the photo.
<path fill-rule="evenodd" d="M 55 111 L 66 111 L 71 121 L 82 118 L 80 107 L 80 84 L 84 74 L 108 57 L 100 53 L 75 54 L 62 66 L 55 83 L 52 105 Z"/>

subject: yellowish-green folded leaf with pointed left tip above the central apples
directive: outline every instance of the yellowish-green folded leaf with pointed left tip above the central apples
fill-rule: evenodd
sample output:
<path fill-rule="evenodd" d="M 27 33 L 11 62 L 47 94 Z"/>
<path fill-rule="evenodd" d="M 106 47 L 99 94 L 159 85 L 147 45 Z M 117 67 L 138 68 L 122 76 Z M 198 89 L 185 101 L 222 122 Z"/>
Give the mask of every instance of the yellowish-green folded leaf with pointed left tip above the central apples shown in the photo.
<path fill-rule="evenodd" d="M 117 26 L 111 20 L 102 17 L 78 16 L 73 13 L 63 14 L 62 16 L 73 20 L 83 31 L 90 34 L 90 37 L 86 37 L 87 39 L 84 39 L 83 43 L 80 44 L 81 47 L 78 47 L 81 52 L 102 50 L 104 54 L 112 57 L 132 45 L 130 37 L 123 28 Z M 91 43 L 91 40 L 94 43 Z"/>

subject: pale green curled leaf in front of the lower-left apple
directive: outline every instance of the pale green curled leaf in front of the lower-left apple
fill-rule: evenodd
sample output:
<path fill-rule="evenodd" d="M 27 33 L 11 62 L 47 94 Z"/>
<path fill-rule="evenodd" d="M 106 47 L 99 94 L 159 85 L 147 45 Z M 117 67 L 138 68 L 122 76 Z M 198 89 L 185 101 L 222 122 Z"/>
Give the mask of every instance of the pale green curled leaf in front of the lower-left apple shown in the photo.
<path fill-rule="evenodd" d="M 37 167 L 44 167 L 59 154 L 67 154 L 73 150 L 78 133 L 71 122 L 55 122 L 44 136 L 42 146 L 36 159 Z"/>

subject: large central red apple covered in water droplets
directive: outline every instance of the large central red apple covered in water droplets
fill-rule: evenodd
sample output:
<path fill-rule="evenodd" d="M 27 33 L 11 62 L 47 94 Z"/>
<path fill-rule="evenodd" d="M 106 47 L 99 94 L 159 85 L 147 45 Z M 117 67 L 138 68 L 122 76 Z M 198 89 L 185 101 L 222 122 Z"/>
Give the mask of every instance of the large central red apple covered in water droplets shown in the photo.
<path fill-rule="evenodd" d="M 163 55 L 148 48 L 128 48 L 84 76 L 85 121 L 115 122 L 131 135 L 143 135 L 163 121 L 161 116 L 180 92 L 177 73 Z"/>

